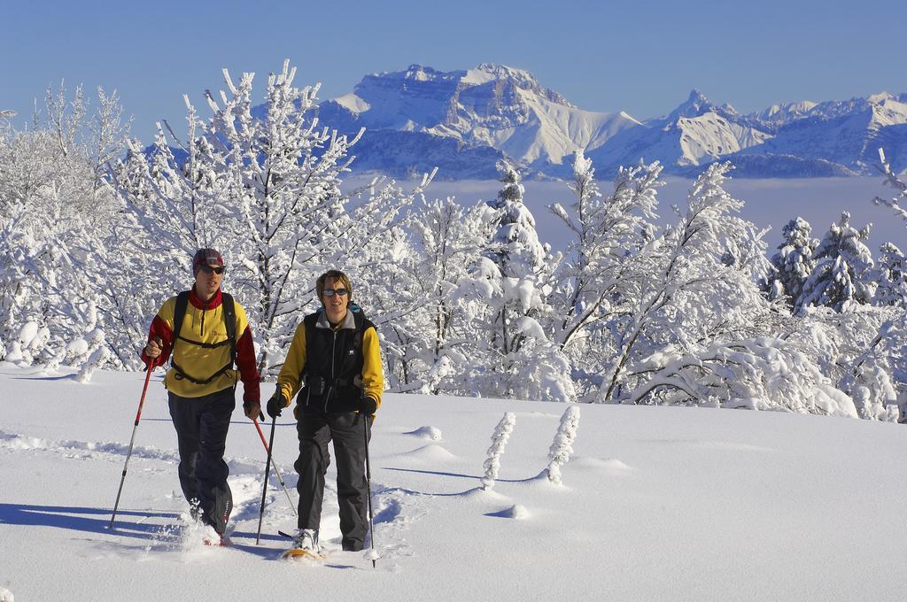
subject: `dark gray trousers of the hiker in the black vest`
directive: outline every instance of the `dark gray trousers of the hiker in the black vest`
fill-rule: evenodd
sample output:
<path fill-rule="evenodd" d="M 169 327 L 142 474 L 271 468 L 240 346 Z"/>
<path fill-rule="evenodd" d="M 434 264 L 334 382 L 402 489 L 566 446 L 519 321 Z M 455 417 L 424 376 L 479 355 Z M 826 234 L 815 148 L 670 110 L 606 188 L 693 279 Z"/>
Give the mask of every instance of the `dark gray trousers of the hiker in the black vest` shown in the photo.
<path fill-rule="evenodd" d="M 299 529 L 318 529 L 325 496 L 325 473 L 331 463 L 327 443 L 334 441 L 337 462 L 337 501 L 343 549 L 363 549 L 368 532 L 368 486 L 366 483 L 366 438 L 371 437 L 371 419 L 355 412 L 301 412 L 299 433 Z"/>

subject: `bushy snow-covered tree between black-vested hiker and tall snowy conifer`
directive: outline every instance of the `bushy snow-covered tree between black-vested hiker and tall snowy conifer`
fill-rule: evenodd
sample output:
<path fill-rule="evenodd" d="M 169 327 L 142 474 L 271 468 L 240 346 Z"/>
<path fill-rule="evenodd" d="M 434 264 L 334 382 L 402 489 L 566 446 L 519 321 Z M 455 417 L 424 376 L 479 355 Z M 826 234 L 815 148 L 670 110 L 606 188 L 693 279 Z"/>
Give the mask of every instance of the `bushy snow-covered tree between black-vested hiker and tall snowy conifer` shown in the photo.
<path fill-rule="evenodd" d="M 370 270 L 383 329 L 385 379 L 397 391 L 470 394 L 474 304 L 459 286 L 493 232 L 493 209 L 463 208 L 452 198 L 414 207 L 408 233 L 386 246 L 392 256 Z M 373 264 L 374 265 L 374 264 Z"/>

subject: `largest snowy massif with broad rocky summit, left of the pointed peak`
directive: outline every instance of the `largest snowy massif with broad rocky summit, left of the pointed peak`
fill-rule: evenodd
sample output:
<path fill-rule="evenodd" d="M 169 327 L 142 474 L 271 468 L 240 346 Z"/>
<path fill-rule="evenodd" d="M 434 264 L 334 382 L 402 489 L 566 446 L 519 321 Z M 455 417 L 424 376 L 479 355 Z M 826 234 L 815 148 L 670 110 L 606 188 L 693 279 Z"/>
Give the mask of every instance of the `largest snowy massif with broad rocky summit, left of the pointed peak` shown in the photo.
<path fill-rule="evenodd" d="M 503 156 L 546 171 L 639 125 L 625 112 L 583 111 L 532 73 L 487 63 L 453 72 L 414 64 L 366 75 L 353 92 L 323 102 L 319 116 L 339 131 L 366 128 L 357 169 L 439 165 L 448 178 L 494 177 L 494 158 Z"/>

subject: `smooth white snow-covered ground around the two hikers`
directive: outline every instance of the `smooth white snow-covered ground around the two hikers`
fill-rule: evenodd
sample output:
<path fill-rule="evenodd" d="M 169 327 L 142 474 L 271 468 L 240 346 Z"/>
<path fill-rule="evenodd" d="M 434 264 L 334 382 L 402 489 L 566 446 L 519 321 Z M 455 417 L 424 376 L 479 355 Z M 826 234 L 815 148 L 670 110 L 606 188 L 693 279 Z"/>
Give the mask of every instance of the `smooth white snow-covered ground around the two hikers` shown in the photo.
<path fill-rule="evenodd" d="M 238 410 L 227 447 L 234 546 L 181 534 L 185 502 L 161 373 L 152 377 L 120 512 L 107 529 L 142 374 L 0 364 L 0 598 L 33 600 L 902 600 L 907 430 L 783 413 L 580 407 L 557 486 L 547 454 L 567 406 L 392 395 L 371 447 L 377 567 L 278 560 L 295 526 Z M 268 386 L 263 387 L 268 391 Z M 483 461 L 516 423 L 493 490 Z M 265 430 L 267 435 L 267 428 Z M 296 431 L 275 458 L 296 500 Z M 336 490 L 322 540 L 339 547 Z M 514 518 L 515 517 L 515 518 Z"/>

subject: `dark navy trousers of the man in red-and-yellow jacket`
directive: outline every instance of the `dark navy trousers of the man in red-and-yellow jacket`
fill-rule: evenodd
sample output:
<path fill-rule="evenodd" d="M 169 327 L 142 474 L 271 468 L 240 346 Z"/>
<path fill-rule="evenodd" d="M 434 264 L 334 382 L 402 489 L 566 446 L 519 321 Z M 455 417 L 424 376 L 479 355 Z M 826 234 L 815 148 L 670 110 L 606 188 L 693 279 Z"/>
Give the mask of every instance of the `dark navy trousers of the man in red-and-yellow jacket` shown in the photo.
<path fill-rule="evenodd" d="M 173 426 L 180 445 L 180 486 L 186 500 L 200 502 L 201 519 L 218 533 L 227 528 L 233 495 L 224 461 L 230 416 L 236 407 L 233 388 L 204 397 L 169 393 Z"/>

